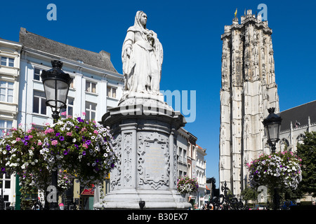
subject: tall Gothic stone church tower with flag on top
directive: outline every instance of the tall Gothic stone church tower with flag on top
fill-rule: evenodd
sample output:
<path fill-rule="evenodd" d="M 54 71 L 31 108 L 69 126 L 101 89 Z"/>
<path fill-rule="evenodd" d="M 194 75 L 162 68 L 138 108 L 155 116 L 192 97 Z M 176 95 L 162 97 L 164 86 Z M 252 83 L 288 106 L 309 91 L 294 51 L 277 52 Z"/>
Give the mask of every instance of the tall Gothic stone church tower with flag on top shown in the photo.
<path fill-rule="evenodd" d="M 246 15 L 225 26 L 220 90 L 220 186 L 226 181 L 234 195 L 247 184 L 247 162 L 265 149 L 262 121 L 268 108 L 279 113 L 272 29 L 261 15 Z"/>

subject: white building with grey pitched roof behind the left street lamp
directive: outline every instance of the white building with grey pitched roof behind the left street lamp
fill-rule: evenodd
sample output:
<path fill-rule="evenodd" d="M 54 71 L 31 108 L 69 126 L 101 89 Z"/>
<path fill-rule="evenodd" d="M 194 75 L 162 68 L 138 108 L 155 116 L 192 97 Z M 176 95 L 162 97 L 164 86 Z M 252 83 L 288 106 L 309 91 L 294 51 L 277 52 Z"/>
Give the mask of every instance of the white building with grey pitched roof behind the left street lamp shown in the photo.
<path fill-rule="evenodd" d="M 27 129 L 52 123 L 51 109 L 45 104 L 41 72 L 51 69 L 51 61 L 63 63 L 62 70 L 73 78 L 67 97 L 67 116 L 101 120 L 107 109 L 117 106 L 122 96 L 124 79 L 112 65 L 104 50 L 91 52 L 50 40 L 20 29 L 21 76 L 18 121 Z"/>

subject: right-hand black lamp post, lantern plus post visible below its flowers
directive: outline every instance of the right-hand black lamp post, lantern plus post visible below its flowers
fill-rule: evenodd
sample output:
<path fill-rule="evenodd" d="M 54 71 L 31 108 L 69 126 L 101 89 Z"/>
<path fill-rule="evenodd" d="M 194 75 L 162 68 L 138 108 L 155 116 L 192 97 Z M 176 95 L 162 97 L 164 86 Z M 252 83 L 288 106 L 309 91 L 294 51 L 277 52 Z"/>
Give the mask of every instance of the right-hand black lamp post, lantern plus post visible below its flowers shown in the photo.
<path fill-rule="evenodd" d="M 271 152 L 275 153 L 275 145 L 279 141 L 279 130 L 281 127 L 282 118 L 275 114 L 275 108 L 268 109 L 269 115 L 263 120 L 263 126 L 265 127 L 265 135 L 268 139 L 268 144 L 271 148 Z M 279 193 L 277 187 L 274 188 L 273 193 L 274 209 L 279 209 Z"/>

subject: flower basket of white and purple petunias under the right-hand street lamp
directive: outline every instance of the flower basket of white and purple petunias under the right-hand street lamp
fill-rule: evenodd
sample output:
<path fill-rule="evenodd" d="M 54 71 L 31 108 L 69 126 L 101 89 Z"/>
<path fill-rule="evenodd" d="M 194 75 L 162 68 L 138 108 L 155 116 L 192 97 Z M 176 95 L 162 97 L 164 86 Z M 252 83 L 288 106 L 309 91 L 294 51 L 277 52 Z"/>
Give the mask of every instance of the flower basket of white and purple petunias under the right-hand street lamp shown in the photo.
<path fill-rule="evenodd" d="M 252 188 L 276 186 L 296 189 L 302 180 L 301 159 L 292 152 L 279 152 L 261 155 L 247 164 Z"/>

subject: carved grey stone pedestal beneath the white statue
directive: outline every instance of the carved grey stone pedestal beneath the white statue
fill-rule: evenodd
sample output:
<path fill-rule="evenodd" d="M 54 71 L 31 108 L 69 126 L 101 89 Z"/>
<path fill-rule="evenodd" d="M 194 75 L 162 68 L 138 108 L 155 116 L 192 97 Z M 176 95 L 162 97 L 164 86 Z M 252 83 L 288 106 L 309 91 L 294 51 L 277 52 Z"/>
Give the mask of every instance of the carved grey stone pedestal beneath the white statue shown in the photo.
<path fill-rule="evenodd" d="M 110 193 L 94 204 L 104 209 L 188 209 L 176 191 L 177 130 L 185 125 L 163 96 L 129 95 L 103 116 L 115 139 L 119 161 L 110 174 Z"/>

